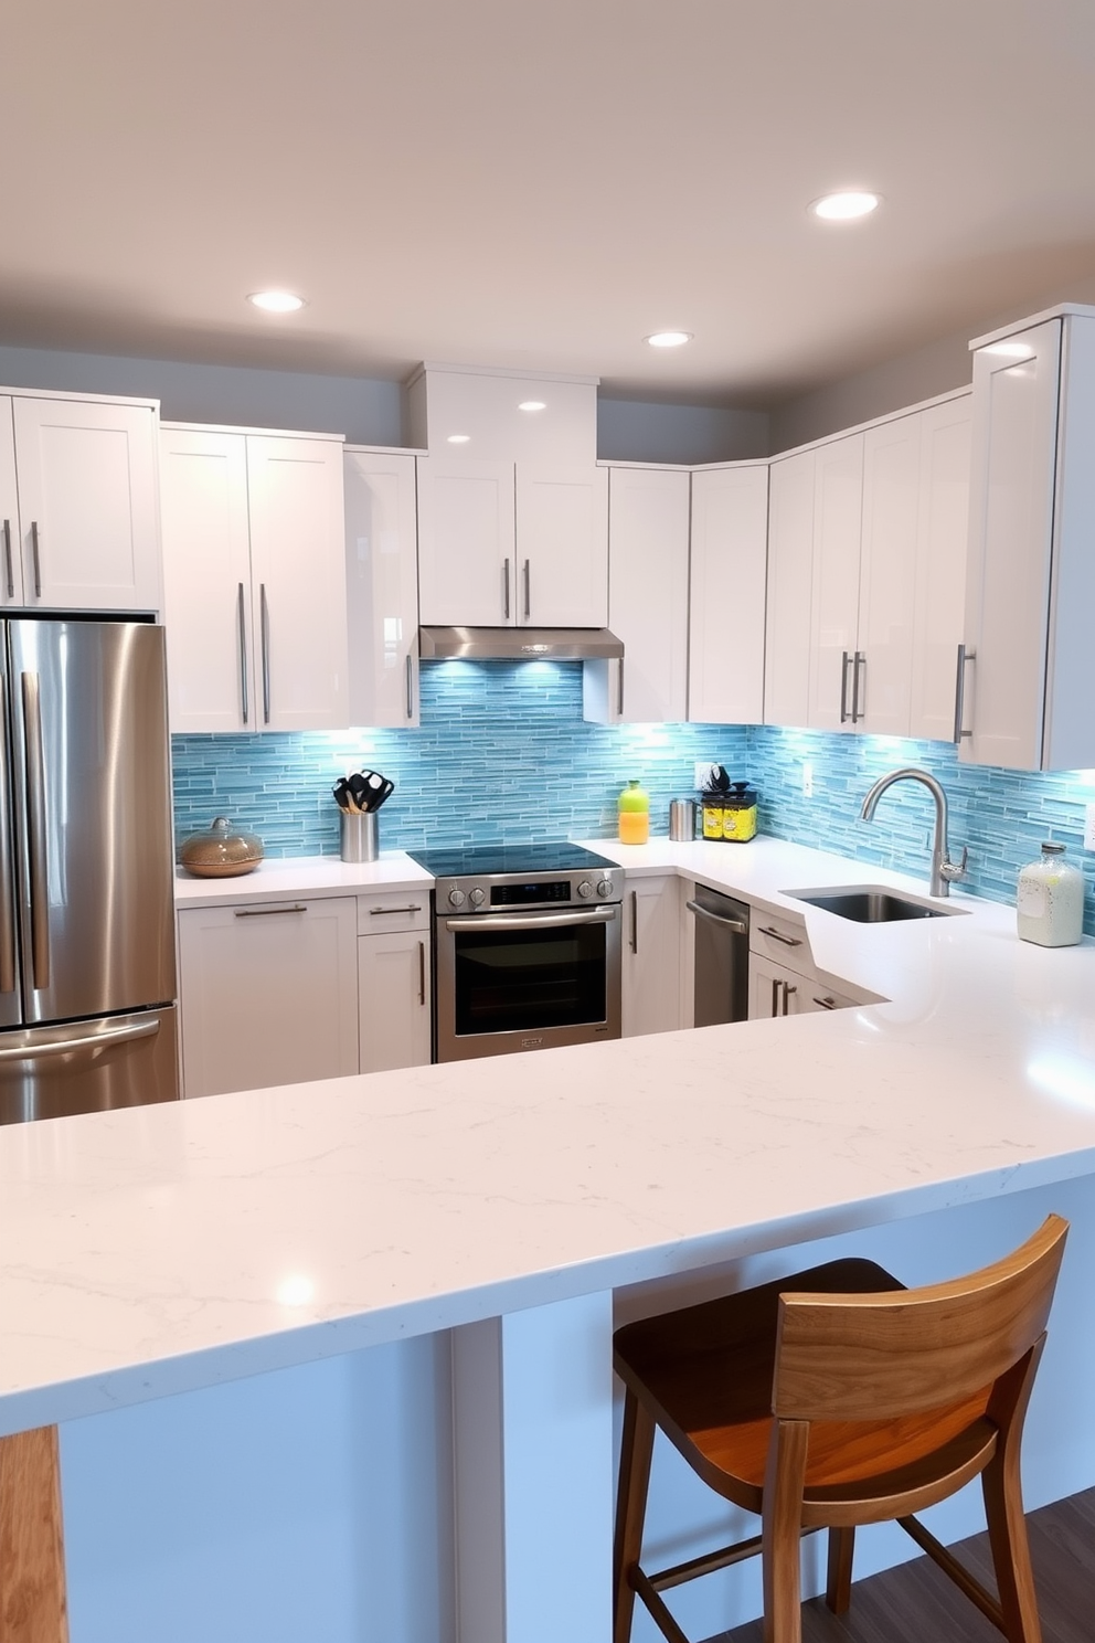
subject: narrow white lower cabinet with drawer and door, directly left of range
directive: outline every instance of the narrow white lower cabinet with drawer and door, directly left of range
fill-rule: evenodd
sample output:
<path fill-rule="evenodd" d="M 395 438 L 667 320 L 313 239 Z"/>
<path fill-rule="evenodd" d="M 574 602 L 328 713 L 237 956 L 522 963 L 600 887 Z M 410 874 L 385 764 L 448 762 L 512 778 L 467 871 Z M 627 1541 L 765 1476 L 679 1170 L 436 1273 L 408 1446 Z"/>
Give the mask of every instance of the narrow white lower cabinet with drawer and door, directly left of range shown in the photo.
<path fill-rule="evenodd" d="M 430 892 L 358 897 L 361 1071 L 430 1061 Z"/>

